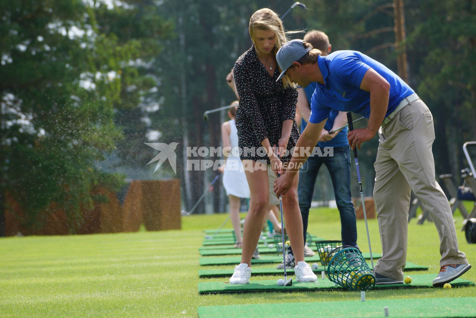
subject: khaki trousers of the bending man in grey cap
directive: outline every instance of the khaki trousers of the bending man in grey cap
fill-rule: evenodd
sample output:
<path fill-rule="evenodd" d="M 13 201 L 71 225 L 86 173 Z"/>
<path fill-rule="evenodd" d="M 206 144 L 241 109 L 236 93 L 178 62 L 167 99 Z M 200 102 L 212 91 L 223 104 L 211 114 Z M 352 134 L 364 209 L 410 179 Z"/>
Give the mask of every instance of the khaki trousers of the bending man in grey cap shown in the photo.
<path fill-rule="evenodd" d="M 440 238 L 440 266 L 467 264 L 458 250 L 453 215 L 443 190 L 435 180 L 431 147 L 435 140 L 433 117 L 421 99 L 401 109 L 379 129 L 374 167 L 374 199 L 382 241 L 382 258 L 375 271 L 402 280 L 407 262 L 408 209 L 413 190 L 428 210 Z"/>

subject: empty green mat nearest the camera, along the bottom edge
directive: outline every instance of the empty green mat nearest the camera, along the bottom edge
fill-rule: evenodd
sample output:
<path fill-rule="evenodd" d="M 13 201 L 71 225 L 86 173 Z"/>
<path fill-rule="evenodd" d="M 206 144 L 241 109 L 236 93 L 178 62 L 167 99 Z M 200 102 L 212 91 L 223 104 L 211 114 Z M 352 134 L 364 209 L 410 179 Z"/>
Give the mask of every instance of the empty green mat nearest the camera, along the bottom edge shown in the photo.
<path fill-rule="evenodd" d="M 293 283 L 294 285 L 294 283 Z M 284 287 L 283 287 L 284 288 Z M 356 293 L 357 295 L 357 293 Z M 357 296 L 356 296 L 357 297 Z M 417 298 L 340 300 L 306 303 L 250 304 L 198 307 L 199 318 L 261 318 L 261 317 L 384 317 L 388 307 L 389 317 L 443 318 L 476 317 L 476 298 Z"/>

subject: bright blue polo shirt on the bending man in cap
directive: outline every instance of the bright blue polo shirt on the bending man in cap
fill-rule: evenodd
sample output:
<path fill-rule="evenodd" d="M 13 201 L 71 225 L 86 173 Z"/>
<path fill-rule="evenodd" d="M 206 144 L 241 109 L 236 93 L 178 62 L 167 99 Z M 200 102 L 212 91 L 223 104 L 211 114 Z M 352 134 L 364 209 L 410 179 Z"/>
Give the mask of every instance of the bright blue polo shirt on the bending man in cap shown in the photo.
<path fill-rule="evenodd" d="M 397 108 L 402 99 L 415 93 L 385 65 L 357 51 L 335 51 L 324 57 L 318 56 L 317 63 L 325 84 L 317 83 L 312 95 L 309 121 L 314 124 L 328 118 L 331 109 L 351 111 L 368 118 L 370 93 L 360 89 L 360 83 L 370 68 L 390 84 L 386 116 Z"/>

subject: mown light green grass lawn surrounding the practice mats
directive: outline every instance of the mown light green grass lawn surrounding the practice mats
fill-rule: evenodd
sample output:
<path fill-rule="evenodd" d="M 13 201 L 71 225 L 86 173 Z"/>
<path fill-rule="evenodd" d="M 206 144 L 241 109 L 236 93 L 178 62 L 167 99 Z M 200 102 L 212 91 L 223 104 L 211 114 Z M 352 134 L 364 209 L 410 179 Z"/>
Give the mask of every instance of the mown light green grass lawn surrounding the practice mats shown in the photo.
<path fill-rule="evenodd" d="M 56 237 L 0 239 L 0 317 L 197 317 L 198 306 L 311 302 L 360 299 L 360 293 L 319 291 L 199 296 L 198 248 L 204 229 L 217 229 L 225 214 L 182 218 L 182 230 Z M 475 265 L 476 244 L 460 232 L 462 217 L 455 214 L 460 250 Z M 409 224 L 407 261 L 439 270 L 439 239 L 433 223 Z M 231 228 L 228 223 L 226 228 Z M 358 245 L 368 251 L 365 222 L 357 221 Z M 377 220 L 369 220 L 370 239 L 381 252 Z M 326 239 L 340 239 L 337 209 L 312 209 L 308 231 Z M 271 264 L 253 268 L 271 267 Z M 213 268 L 233 268 L 208 266 Z M 408 275 L 422 272 L 408 272 Z M 294 276 L 292 276 L 294 278 Z M 252 276 L 252 279 L 277 279 Z M 320 277 L 319 277 L 320 278 Z M 476 281 L 476 268 L 463 278 Z M 376 290 L 367 299 L 474 297 L 476 288 Z M 224 313 L 226 315 L 226 313 Z"/>

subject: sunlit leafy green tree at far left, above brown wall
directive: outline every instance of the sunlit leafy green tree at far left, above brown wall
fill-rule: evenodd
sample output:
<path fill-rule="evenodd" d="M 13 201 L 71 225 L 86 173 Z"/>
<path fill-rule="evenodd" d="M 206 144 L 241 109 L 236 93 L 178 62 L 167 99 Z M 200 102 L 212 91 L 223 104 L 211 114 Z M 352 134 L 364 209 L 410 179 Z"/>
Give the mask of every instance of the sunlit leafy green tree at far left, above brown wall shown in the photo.
<path fill-rule="evenodd" d="M 127 87 L 147 83 L 129 61 L 157 54 L 163 27 L 130 2 L 0 1 L 0 203 L 3 211 L 3 194 L 13 195 L 27 227 L 40 227 L 38 212 L 57 202 L 74 232 L 91 190 L 122 184 L 96 163 L 123 138 L 115 114 L 137 107 Z M 133 19 L 157 24 L 134 29 Z"/>

